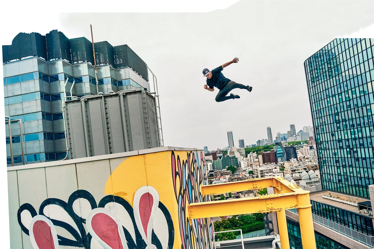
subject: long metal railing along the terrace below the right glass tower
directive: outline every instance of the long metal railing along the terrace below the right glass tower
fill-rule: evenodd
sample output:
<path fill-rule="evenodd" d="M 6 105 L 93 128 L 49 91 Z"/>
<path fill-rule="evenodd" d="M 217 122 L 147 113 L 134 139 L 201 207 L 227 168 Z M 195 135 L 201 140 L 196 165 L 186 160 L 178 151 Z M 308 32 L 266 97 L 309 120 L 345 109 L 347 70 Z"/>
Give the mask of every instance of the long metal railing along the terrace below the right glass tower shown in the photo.
<path fill-rule="evenodd" d="M 289 209 L 289 211 L 298 213 L 297 209 Z M 325 227 L 330 228 L 331 230 L 337 231 L 351 239 L 354 239 L 360 243 L 363 243 L 371 248 L 374 248 L 374 236 L 368 236 L 366 234 L 360 233 L 359 231 L 353 230 L 352 228 L 346 227 L 344 225 L 340 225 L 334 221 L 330 221 L 324 217 L 312 214 L 313 221 L 321 224 Z"/>

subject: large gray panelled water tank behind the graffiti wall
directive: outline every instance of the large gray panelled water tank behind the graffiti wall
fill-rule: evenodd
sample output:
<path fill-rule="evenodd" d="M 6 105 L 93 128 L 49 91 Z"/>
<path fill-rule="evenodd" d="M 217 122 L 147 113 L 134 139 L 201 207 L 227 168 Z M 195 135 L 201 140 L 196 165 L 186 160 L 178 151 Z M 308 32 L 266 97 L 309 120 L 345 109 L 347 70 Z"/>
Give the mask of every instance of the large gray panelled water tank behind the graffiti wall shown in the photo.
<path fill-rule="evenodd" d="M 66 102 L 69 158 L 160 147 L 156 100 L 144 90 Z"/>

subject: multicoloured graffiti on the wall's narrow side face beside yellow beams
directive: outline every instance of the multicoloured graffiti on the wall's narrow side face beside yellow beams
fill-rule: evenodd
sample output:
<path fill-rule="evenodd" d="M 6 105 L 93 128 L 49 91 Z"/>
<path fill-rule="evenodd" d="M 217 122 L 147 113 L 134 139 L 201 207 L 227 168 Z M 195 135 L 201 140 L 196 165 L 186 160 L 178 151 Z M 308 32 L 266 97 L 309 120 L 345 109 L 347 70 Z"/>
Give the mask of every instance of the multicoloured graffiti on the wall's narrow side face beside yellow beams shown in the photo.
<path fill-rule="evenodd" d="M 181 234 L 180 248 L 209 248 L 213 241 L 212 220 L 188 217 L 187 205 L 202 202 L 200 185 L 208 184 L 205 159 L 202 152 L 187 152 L 187 159 L 171 152 L 171 170 L 175 198 L 178 203 L 178 221 Z M 208 227 L 209 224 L 209 227 Z"/>

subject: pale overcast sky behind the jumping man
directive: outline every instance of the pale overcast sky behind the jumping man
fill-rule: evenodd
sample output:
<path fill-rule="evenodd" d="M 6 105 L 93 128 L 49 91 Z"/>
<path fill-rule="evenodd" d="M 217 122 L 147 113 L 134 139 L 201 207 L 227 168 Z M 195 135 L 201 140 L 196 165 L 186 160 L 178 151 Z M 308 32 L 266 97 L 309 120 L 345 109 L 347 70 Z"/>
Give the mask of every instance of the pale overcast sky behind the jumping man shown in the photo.
<path fill-rule="evenodd" d="M 157 76 L 168 146 L 212 150 L 227 146 L 227 131 L 233 131 L 235 145 L 239 138 L 248 145 L 267 138 L 267 126 L 274 139 L 290 124 L 296 131 L 312 126 L 304 61 L 334 38 L 374 37 L 374 1 L 92 1 L 88 7 L 87 2 L 68 0 L 51 4 L 7 1 L 1 45 L 11 44 L 19 32 L 45 35 L 52 29 L 68 38 L 91 40 L 90 24 L 95 42 L 128 44 Z M 80 10 L 148 13 L 59 13 Z M 253 90 L 235 89 L 232 93 L 240 99 L 215 102 L 218 90 L 203 89 L 202 69 L 212 70 L 234 57 L 239 63 L 223 74 Z M 3 105 L 0 113 L 4 115 Z M 4 126 L 0 135 L 5 137 Z M 6 189 L 6 174 L 0 175 Z M 6 200 L 6 191 L 2 194 Z M 9 243 L 8 224 L 2 224 L 2 242 Z"/>

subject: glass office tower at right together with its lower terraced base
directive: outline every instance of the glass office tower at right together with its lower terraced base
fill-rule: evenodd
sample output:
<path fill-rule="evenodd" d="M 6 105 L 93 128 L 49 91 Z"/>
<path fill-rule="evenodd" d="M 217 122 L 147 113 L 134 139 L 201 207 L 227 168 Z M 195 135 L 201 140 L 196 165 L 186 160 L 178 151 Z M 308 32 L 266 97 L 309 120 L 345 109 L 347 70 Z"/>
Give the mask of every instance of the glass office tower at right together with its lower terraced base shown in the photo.
<path fill-rule="evenodd" d="M 374 247 L 373 54 L 374 39 L 335 39 L 304 62 L 322 182 L 313 225 L 328 248 Z M 300 248 L 298 216 L 286 215 Z"/>

